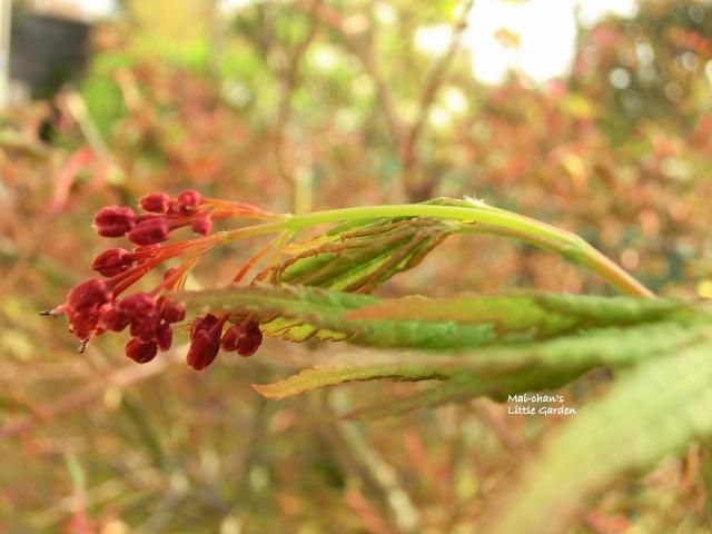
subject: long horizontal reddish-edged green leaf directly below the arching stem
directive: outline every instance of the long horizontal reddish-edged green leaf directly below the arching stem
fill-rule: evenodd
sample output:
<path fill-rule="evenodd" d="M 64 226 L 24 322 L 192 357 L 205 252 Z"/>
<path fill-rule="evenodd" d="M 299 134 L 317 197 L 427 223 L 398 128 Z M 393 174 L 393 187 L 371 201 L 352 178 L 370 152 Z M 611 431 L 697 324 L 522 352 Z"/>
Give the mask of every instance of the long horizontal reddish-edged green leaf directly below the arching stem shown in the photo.
<path fill-rule="evenodd" d="M 176 298 L 216 313 L 251 314 L 267 335 L 320 337 L 389 348 L 445 349 L 524 343 L 591 328 L 675 317 L 700 320 L 700 308 L 680 299 L 516 294 L 449 299 L 367 295 L 310 287 L 253 286 L 184 293 Z"/>

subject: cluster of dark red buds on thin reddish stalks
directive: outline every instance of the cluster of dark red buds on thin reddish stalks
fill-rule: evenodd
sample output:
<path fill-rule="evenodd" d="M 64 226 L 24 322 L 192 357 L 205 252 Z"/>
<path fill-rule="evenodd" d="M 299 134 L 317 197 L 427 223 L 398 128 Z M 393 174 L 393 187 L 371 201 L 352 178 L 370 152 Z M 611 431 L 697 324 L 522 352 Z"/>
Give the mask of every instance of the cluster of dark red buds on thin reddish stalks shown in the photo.
<path fill-rule="evenodd" d="M 103 279 L 90 278 L 75 286 L 63 304 L 44 314 L 67 316 L 70 332 L 81 340 L 80 350 L 93 337 L 128 328 L 131 337 L 126 344 L 126 355 L 144 364 L 154 359 L 158 350 L 170 348 L 174 325 L 186 319 L 185 307 L 166 293 L 181 289 L 199 257 L 219 241 L 220 235 L 210 235 L 212 220 L 234 216 L 273 218 L 274 215 L 244 202 L 205 198 L 194 190 L 182 191 L 176 198 L 151 192 L 140 199 L 139 206 L 144 212 L 137 214 L 126 206 L 109 206 L 97 212 L 93 222 L 100 236 L 126 236 L 135 247 L 100 253 L 91 269 Z M 161 245 L 172 230 L 187 226 L 204 237 Z M 172 258 L 181 258 L 182 264 L 167 269 L 162 283 L 152 290 L 120 298 L 147 273 Z M 230 319 L 237 322 L 226 328 Z M 202 315 L 191 323 L 188 365 L 204 369 L 220 348 L 250 356 L 261 340 L 259 325 L 250 317 Z"/>

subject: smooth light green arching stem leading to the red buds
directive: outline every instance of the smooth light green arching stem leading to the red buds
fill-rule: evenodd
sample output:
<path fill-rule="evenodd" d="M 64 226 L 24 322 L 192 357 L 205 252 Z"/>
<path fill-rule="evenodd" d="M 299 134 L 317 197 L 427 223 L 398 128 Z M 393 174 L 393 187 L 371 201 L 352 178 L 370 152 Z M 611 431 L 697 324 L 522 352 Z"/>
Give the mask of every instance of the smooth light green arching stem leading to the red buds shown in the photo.
<path fill-rule="evenodd" d="M 553 249 L 567 259 L 593 270 L 620 291 L 627 295 L 654 297 L 640 281 L 601 254 L 580 236 L 523 215 L 486 205 L 468 207 L 434 204 L 405 204 L 329 209 L 303 215 L 285 215 L 273 222 L 225 233 L 231 241 L 273 231 L 297 233 L 325 224 L 343 220 L 378 219 L 392 217 L 436 217 L 481 226 L 482 231 L 515 237 L 543 248 Z M 486 226 L 485 226 L 486 225 Z M 474 227 L 474 231 L 477 226 Z"/>

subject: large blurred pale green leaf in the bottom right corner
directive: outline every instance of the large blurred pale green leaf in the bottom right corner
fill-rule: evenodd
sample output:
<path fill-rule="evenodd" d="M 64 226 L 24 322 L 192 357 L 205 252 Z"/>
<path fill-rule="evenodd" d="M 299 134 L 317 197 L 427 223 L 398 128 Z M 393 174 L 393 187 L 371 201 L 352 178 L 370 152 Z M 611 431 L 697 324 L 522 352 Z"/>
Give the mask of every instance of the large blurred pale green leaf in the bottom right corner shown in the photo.
<path fill-rule="evenodd" d="M 488 500 L 483 534 L 564 532 L 587 498 L 712 434 L 712 345 L 635 367 L 570 417 Z"/>

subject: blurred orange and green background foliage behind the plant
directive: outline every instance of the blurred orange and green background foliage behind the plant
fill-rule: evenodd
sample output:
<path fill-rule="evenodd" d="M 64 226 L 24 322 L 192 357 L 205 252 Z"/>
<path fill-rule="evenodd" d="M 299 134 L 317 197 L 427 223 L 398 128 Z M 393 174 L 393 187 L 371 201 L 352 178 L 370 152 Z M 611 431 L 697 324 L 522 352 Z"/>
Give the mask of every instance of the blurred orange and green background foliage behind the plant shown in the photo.
<path fill-rule="evenodd" d="M 493 82 L 473 76 L 468 44 L 483 2 L 126 0 L 92 26 L 79 78 L 2 116 L 3 532 L 473 532 L 497 481 L 557 424 L 487 400 L 343 422 L 428 386 L 281 403 L 250 387 L 377 357 L 338 345 L 267 343 L 199 375 L 175 365 L 185 347 L 144 367 L 111 338 L 77 355 L 36 312 L 87 276 L 103 205 L 187 187 L 273 211 L 476 195 L 581 234 L 661 294 L 712 296 L 712 4 L 574 19 L 571 67 L 546 80 L 517 67 L 527 42 L 505 23 L 491 33 L 514 68 Z M 216 251 L 192 287 L 248 256 Z M 488 237 L 453 238 L 379 291 L 514 287 L 607 291 Z M 565 394 L 604 387 L 589 377 Z M 709 532 L 712 458 L 695 447 L 700 465 L 670 458 L 621 481 L 571 532 Z"/>

